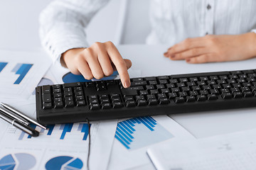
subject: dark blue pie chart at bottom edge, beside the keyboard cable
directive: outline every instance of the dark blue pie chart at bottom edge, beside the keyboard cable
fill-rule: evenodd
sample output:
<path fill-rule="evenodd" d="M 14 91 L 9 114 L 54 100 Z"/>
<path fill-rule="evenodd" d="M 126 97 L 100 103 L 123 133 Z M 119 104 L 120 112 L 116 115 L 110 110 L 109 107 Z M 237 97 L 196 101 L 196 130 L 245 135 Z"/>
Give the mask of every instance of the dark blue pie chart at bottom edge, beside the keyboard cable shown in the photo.
<path fill-rule="evenodd" d="M 46 163 L 46 170 L 79 170 L 82 169 L 82 161 L 76 157 L 54 157 Z"/>

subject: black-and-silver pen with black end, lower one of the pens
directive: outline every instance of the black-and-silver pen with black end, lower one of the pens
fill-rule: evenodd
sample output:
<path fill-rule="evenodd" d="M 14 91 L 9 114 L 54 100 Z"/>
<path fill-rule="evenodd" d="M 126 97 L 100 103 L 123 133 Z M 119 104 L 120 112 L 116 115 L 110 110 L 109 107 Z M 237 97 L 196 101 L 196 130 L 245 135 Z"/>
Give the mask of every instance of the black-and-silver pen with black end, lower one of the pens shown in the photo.
<path fill-rule="evenodd" d="M 24 125 L 23 123 L 19 122 L 18 120 L 12 119 L 9 117 L 9 115 L 5 115 L 2 111 L 0 111 L 0 118 L 3 120 L 6 120 L 6 122 L 11 123 L 14 127 L 22 130 L 23 132 L 28 133 L 28 135 L 31 135 L 33 137 L 37 137 L 39 135 L 39 132 L 34 130 L 33 128 Z"/>

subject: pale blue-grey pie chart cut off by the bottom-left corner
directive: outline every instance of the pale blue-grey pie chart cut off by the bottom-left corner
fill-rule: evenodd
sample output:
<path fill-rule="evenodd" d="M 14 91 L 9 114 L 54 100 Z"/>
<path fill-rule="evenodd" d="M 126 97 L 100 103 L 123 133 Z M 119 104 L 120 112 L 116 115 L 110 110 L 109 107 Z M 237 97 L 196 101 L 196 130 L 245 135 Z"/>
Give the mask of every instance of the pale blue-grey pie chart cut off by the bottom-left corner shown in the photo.
<path fill-rule="evenodd" d="M 0 159 L 1 170 L 23 170 L 32 169 L 36 165 L 36 158 L 31 154 L 18 153 L 8 154 Z"/>

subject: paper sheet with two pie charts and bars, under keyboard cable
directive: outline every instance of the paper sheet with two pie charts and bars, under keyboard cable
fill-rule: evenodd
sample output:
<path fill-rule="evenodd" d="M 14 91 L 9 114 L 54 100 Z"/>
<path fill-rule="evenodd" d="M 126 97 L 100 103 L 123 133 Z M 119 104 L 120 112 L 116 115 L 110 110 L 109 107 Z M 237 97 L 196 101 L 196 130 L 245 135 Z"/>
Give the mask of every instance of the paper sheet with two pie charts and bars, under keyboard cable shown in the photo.
<path fill-rule="evenodd" d="M 91 124 L 90 169 L 107 169 L 115 125 L 115 120 Z M 87 123 L 48 125 L 48 130 L 36 127 L 39 137 L 4 123 L 0 127 L 4 131 L 0 133 L 0 169 L 86 169 Z"/>

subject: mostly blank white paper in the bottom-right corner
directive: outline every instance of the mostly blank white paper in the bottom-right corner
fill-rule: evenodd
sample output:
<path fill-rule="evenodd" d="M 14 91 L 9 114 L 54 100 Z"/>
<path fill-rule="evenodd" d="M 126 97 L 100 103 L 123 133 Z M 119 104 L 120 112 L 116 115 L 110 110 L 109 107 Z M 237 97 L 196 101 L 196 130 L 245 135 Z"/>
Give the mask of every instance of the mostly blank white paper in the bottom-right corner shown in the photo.
<path fill-rule="evenodd" d="M 151 147 L 148 154 L 159 170 L 254 170 L 256 129 L 228 135 Z"/>

